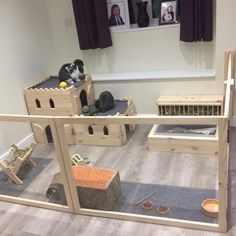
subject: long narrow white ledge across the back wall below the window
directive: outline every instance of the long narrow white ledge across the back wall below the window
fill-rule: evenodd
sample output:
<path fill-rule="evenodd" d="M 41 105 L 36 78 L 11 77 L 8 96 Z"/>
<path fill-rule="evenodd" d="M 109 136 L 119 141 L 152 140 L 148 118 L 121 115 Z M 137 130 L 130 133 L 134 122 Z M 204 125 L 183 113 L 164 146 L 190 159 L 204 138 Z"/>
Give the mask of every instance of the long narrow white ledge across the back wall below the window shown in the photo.
<path fill-rule="evenodd" d="M 94 82 L 215 78 L 215 69 L 92 74 Z"/>

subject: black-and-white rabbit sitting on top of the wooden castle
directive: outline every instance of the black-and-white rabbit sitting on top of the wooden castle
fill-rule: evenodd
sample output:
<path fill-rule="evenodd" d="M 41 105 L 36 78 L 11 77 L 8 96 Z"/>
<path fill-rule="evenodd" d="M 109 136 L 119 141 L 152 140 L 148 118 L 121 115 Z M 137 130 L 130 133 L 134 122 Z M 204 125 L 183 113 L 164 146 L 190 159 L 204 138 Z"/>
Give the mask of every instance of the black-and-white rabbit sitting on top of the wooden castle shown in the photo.
<path fill-rule="evenodd" d="M 62 65 L 58 77 L 60 82 L 65 81 L 70 85 L 84 79 L 84 62 L 77 59 L 73 63 Z"/>

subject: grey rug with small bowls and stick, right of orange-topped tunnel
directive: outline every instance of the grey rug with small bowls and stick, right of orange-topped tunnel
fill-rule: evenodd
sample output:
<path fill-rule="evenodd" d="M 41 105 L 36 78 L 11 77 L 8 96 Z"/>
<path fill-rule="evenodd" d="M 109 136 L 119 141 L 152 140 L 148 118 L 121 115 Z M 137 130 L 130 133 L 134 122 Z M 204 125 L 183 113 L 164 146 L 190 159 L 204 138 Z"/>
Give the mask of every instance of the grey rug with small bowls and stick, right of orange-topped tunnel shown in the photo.
<path fill-rule="evenodd" d="M 209 218 L 201 212 L 201 202 L 206 198 L 216 198 L 215 190 L 133 182 L 121 182 L 121 190 L 122 197 L 115 211 L 208 223 L 217 222 L 217 219 Z M 148 200 L 155 206 L 168 205 L 170 212 L 166 216 L 160 215 L 156 207 L 146 211 L 141 208 L 141 204 L 135 205 L 153 192 L 157 193 Z"/>

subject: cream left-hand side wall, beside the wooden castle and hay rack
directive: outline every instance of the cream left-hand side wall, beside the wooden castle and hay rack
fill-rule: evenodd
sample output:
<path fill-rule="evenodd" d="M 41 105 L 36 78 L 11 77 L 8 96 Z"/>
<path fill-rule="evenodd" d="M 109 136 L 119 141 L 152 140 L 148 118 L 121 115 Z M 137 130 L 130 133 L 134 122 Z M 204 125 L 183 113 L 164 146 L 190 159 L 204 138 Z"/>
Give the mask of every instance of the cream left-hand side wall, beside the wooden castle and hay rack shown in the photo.
<path fill-rule="evenodd" d="M 42 79 L 55 57 L 45 0 L 0 0 L 0 108 L 27 114 L 23 89 Z M 0 123 L 0 151 L 31 132 L 29 125 Z"/>

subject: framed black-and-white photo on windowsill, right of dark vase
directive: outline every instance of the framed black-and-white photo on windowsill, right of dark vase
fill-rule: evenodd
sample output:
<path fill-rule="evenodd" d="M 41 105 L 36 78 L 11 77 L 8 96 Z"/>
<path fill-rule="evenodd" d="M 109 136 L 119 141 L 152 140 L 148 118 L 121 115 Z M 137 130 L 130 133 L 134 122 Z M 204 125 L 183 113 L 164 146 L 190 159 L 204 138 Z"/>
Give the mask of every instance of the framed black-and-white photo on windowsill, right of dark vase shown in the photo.
<path fill-rule="evenodd" d="M 177 1 L 161 1 L 159 24 L 177 23 Z"/>

